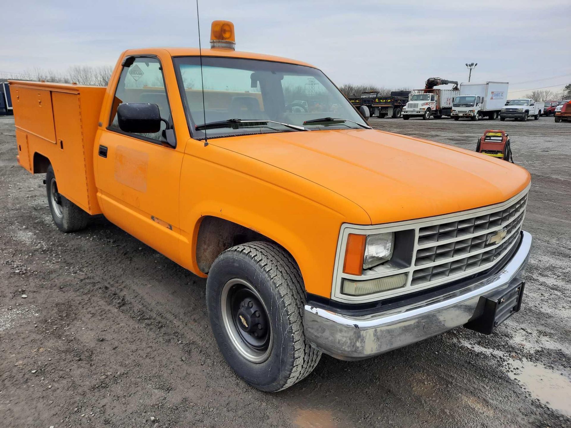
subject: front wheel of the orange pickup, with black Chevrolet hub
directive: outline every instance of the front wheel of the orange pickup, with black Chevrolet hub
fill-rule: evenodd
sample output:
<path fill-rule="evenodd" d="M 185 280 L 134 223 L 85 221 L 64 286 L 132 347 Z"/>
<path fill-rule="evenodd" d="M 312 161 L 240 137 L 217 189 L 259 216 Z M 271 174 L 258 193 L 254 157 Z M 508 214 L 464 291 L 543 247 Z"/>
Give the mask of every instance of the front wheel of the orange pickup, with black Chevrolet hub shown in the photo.
<path fill-rule="evenodd" d="M 221 253 L 208 273 L 206 303 L 220 352 L 262 391 L 305 378 L 321 352 L 305 339 L 305 292 L 293 258 L 276 244 L 252 242 Z"/>

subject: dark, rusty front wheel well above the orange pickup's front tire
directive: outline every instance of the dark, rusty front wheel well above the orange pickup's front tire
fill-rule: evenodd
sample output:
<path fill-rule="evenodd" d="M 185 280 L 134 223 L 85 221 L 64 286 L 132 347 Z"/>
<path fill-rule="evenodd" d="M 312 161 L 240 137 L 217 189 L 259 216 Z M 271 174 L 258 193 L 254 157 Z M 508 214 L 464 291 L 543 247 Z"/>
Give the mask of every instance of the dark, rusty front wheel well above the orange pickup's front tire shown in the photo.
<path fill-rule="evenodd" d="M 198 268 L 201 272 L 208 273 L 216 257 L 224 250 L 252 241 L 266 241 L 277 244 L 274 240 L 262 235 L 262 233 L 248 229 L 240 224 L 220 219 L 219 217 L 205 216 L 200 222 L 196 239 L 196 263 Z"/>

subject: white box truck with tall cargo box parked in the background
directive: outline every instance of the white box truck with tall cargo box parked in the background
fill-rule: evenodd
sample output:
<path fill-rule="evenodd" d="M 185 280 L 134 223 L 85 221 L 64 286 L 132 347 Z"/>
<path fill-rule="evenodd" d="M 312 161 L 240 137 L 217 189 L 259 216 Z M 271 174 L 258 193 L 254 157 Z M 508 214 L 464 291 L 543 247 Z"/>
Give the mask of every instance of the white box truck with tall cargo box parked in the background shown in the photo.
<path fill-rule="evenodd" d="M 460 83 L 460 94 L 452 104 L 452 118 L 497 119 L 507 98 L 508 82 Z"/>

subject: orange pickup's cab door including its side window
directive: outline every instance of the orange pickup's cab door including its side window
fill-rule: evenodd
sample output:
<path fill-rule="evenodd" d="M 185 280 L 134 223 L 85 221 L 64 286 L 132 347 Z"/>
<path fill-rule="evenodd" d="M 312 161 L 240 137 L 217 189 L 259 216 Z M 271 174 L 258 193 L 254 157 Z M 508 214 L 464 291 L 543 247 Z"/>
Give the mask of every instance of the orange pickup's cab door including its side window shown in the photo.
<path fill-rule="evenodd" d="M 122 131 L 117 119 L 120 103 L 157 104 L 164 119 L 161 130 L 155 134 Z M 166 143 L 162 132 L 166 128 L 172 129 L 173 123 L 160 60 L 154 56 L 127 58 L 108 126 L 96 148 L 99 197 L 112 223 L 176 261 L 183 151 Z"/>

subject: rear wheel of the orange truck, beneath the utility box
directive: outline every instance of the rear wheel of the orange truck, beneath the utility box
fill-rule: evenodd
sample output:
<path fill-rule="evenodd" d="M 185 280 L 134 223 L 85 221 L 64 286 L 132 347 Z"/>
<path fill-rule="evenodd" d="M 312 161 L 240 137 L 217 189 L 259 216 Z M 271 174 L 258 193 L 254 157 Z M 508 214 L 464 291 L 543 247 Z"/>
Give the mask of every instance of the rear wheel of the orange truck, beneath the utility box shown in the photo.
<path fill-rule="evenodd" d="M 89 214 L 58 192 L 54 168 L 50 165 L 46 172 L 47 203 L 51 218 L 62 232 L 77 232 L 85 229 L 89 223 Z"/>

